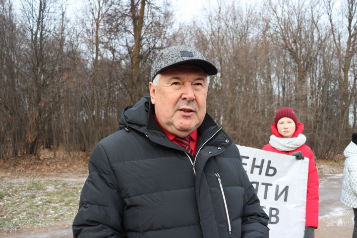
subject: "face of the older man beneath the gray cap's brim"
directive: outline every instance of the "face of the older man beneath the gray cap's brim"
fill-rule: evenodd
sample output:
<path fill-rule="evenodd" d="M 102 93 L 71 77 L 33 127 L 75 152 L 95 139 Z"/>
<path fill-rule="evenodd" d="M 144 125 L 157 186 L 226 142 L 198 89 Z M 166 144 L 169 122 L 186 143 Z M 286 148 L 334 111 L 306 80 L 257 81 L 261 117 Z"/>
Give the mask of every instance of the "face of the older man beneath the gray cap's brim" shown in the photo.
<path fill-rule="evenodd" d="M 156 86 L 149 83 L 156 118 L 170 133 L 187 136 L 206 115 L 207 74 L 194 65 L 170 67 L 160 74 Z"/>

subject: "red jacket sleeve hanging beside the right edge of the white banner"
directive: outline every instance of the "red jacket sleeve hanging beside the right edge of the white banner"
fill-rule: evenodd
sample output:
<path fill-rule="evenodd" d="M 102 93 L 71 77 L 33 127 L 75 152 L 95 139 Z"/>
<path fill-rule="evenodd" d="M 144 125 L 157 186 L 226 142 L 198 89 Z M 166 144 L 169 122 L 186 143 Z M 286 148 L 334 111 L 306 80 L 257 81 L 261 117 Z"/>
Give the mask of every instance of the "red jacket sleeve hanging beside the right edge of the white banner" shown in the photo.
<path fill-rule="evenodd" d="M 318 207 L 319 207 L 319 181 L 314 155 L 311 151 L 309 157 L 309 169 L 307 177 L 307 194 L 306 194 L 306 222 L 308 227 L 318 227 Z"/>

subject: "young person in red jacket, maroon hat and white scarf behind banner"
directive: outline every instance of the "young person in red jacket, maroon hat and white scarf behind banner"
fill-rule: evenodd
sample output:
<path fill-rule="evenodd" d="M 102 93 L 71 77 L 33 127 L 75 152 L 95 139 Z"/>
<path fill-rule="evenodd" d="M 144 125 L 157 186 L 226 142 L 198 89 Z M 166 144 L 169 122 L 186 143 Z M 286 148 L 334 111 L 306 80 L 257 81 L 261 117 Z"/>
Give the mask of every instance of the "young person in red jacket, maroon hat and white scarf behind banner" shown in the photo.
<path fill-rule="evenodd" d="M 314 238 L 314 229 L 318 226 L 319 183 L 314 155 L 311 148 L 305 145 L 306 137 L 302 134 L 303 129 L 304 124 L 297 121 L 293 109 L 288 107 L 279 109 L 271 125 L 273 134 L 263 150 L 293 155 L 297 159 L 309 158 L 304 238 Z"/>

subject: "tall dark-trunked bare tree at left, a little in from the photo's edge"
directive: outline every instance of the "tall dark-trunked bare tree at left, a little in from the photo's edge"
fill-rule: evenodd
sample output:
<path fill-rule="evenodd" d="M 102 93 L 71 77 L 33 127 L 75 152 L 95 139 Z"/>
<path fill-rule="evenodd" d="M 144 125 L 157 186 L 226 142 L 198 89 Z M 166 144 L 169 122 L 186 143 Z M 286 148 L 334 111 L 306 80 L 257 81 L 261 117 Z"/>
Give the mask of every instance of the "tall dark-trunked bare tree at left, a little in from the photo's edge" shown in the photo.
<path fill-rule="evenodd" d="M 63 31 L 63 25 L 60 22 L 58 29 L 56 11 L 51 10 L 51 4 L 50 0 L 22 1 L 23 37 L 26 39 L 23 60 L 28 62 L 24 65 L 23 76 L 31 79 L 28 82 L 29 123 L 25 140 L 29 154 L 37 154 L 41 146 L 50 148 L 53 145 L 51 105 L 54 101 L 47 93 L 60 80 L 59 62 L 64 36 L 60 33 L 60 39 L 52 37 L 58 30 Z"/>

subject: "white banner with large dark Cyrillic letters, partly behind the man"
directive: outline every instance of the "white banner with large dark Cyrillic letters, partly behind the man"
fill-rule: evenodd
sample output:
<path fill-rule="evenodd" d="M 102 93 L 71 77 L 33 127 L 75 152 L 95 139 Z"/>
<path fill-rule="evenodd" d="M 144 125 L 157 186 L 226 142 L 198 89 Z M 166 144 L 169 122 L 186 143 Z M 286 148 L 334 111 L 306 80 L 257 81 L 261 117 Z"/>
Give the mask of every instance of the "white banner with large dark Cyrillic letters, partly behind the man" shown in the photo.
<path fill-rule="evenodd" d="M 237 147 L 260 205 L 269 216 L 269 237 L 303 238 L 309 159 Z"/>

